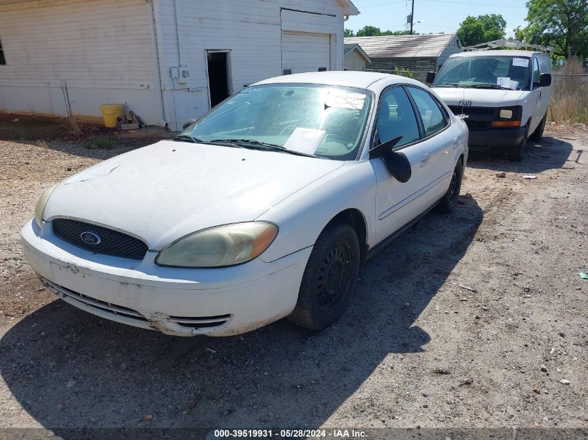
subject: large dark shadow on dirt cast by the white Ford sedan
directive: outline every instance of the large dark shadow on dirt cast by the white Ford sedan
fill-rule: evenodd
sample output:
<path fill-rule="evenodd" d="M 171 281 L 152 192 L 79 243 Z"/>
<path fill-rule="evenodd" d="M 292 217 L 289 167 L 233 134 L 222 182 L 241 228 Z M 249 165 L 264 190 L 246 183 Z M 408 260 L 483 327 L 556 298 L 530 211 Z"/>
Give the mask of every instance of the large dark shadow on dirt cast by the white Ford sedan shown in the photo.
<path fill-rule="evenodd" d="M 415 319 L 481 222 L 469 197 L 451 215 L 427 215 L 367 262 L 349 311 L 321 333 L 281 320 L 241 336 L 180 339 L 56 300 L 3 336 L 0 374 L 26 412 L 56 434 L 65 427 L 318 427 L 387 355 L 427 350 L 430 336 Z"/>

